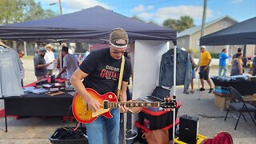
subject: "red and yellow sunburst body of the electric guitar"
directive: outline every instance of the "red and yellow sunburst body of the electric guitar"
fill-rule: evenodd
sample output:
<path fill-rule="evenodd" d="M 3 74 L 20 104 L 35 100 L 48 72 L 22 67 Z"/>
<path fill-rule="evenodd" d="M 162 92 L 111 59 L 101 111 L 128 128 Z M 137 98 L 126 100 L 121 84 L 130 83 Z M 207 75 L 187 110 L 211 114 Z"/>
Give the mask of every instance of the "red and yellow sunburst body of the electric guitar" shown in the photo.
<path fill-rule="evenodd" d="M 86 88 L 88 93 L 95 99 L 98 100 L 103 106 L 103 100 L 107 100 L 109 102 L 118 102 L 116 95 L 112 92 L 108 92 L 106 94 L 98 94 L 97 91 Z M 103 109 L 103 107 L 99 108 L 96 112 L 93 112 L 87 106 L 86 101 L 82 98 L 78 93 L 74 95 L 72 102 L 72 112 L 74 118 L 81 123 L 90 123 L 94 122 L 100 115 L 105 116 L 106 118 L 113 118 L 113 115 L 110 114 L 110 108 Z"/>

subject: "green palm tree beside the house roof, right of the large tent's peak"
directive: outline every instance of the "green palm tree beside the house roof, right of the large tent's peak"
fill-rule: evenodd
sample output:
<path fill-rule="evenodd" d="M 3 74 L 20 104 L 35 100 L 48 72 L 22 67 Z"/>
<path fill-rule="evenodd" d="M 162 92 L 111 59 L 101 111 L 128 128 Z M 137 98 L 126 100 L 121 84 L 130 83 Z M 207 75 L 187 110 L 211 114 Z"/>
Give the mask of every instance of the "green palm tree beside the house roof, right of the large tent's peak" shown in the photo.
<path fill-rule="evenodd" d="M 194 20 L 190 16 L 182 16 L 180 19 L 167 19 L 163 22 L 163 26 L 177 30 L 178 33 L 194 26 Z"/>

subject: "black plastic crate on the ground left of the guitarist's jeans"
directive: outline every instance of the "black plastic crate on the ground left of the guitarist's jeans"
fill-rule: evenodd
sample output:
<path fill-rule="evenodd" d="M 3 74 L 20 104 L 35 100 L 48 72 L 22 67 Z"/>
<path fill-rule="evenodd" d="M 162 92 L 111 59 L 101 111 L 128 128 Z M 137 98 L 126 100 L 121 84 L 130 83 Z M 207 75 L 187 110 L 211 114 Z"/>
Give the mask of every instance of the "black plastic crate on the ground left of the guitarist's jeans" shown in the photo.
<path fill-rule="evenodd" d="M 54 134 L 52 134 L 49 138 L 51 143 L 57 143 L 57 144 L 86 144 L 88 143 L 88 139 L 86 136 L 86 128 L 85 127 L 78 127 L 78 130 L 76 131 L 69 131 L 66 132 L 65 130 L 68 130 L 68 127 L 61 127 L 54 131 Z M 71 127 L 72 130 L 74 130 L 74 127 Z"/>

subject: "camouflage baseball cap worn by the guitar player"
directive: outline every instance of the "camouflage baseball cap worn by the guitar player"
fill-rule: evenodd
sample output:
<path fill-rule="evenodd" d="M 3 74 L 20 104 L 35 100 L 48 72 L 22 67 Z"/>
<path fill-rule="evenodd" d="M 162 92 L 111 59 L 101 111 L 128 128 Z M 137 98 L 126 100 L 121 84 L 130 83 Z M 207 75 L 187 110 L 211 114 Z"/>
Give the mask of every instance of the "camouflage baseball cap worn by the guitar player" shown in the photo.
<path fill-rule="evenodd" d="M 129 38 L 126 30 L 115 28 L 110 32 L 110 45 L 116 48 L 125 48 L 128 45 Z"/>

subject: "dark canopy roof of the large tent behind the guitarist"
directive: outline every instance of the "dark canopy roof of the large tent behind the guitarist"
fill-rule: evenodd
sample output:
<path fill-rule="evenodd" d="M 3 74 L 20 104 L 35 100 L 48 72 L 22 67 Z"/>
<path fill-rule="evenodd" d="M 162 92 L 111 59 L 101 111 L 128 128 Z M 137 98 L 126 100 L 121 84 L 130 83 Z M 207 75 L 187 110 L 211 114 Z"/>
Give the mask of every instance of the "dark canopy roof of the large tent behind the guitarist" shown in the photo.
<path fill-rule="evenodd" d="M 139 22 L 101 6 L 55 18 L 3 25 L 0 26 L 0 38 L 26 42 L 107 40 L 110 30 L 116 27 L 125 29 L 132 40 L 176 41 L 175 30 Z"/>

